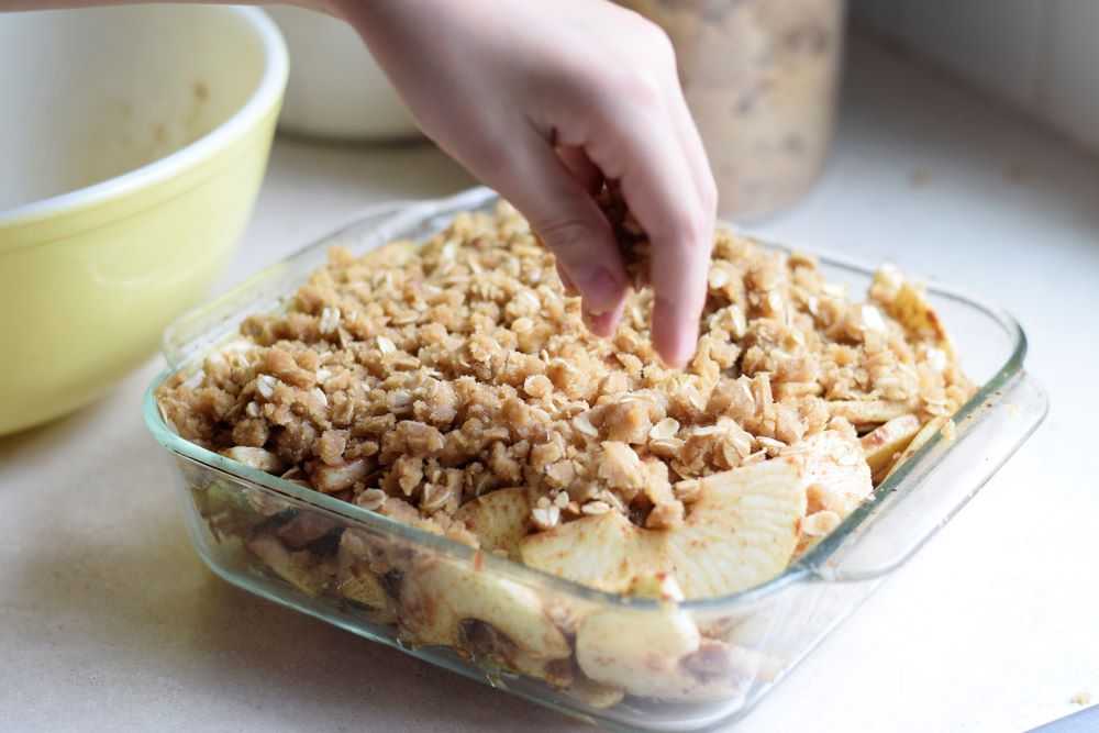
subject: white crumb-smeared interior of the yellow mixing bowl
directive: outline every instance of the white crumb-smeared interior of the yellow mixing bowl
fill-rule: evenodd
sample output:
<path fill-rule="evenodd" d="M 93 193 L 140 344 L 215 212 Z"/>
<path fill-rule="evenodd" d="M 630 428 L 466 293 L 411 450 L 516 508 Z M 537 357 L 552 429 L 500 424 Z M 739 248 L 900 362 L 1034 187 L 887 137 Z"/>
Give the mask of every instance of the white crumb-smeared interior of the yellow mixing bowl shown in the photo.
<path fill-rule="evenodd" d="M 0 212 L 195 142 L 259 86 L 264 45 L 227 8 L 0 13 Z M 18 70 L 18 71 L 16 71 Z"/>

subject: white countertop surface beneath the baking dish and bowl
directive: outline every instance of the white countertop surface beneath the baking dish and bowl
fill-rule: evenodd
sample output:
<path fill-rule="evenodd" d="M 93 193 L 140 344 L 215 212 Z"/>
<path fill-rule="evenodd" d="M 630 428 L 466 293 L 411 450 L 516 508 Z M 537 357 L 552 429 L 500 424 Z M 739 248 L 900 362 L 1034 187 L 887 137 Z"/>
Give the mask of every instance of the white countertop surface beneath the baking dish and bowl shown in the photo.
<path fill-rule="evenodd" d="M 835 154 L 771 238 L 891 259 L 1015 313 L 1045 425 L 737 730 L 1021 731 L 1099 699 L 1099 164 L 856 44 Z M 426 146 L 279 140 L 230 280 L 373 201 L 470 184 Z M 191 551 L 145 432 L 154 359 L 0 438 L 0 729 L 571 731 L 231 588 Z"/>

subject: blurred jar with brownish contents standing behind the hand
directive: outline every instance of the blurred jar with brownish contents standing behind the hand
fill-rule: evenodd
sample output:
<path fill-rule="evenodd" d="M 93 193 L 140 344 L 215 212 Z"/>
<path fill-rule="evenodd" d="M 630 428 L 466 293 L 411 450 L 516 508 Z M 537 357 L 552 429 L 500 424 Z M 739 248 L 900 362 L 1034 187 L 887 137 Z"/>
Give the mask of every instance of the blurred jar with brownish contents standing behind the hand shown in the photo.
<path fill-rule="evenodd" d="M 751 219 L 804 193 L 835 116 L 844 0 L 619 0 L 676 47 L 719 210 Z"/>

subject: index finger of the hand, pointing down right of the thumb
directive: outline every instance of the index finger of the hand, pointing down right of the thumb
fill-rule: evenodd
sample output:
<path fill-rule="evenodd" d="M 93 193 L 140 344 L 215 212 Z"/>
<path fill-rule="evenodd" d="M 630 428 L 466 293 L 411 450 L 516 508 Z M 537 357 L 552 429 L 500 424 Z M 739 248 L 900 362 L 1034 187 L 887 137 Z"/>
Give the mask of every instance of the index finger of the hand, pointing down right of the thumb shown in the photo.
<path fill-rule="evenodd" d="M 714 214 L 710 202 L 700 200 L 700 184 L 666 104 L 645 112 L 604 114 L 599 140 L 612 142 L 593 144 L 588 154 L 609 178 L 620 180 L 631 212 L 648 234 L 653 345 L 667 364 L 682 367 L 698 342 Z"/>

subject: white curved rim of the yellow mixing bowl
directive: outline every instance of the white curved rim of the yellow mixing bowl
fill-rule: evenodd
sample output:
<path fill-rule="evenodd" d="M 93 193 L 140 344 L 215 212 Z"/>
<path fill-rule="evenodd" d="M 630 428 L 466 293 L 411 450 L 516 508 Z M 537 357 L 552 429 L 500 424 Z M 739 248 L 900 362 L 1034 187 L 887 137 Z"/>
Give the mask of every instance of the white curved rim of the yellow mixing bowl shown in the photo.
<path fill-rule="evenodd" d="M 26 224 L 74 209 L 108 203 L 168 180 L 182 170 L 202 164 L 244 136 L 273 105 L 278 104 L 289 74 L 289 57 L 286 42 L 275 21 L 258 8 L 241 5 L 200 5 L 200 8 L 201 12 L 231 13 L 243 19 L 259 38 L 263 46 L 263 75 L 245 103 L 207 134 L 152 163 L 90 186 L 23 203 L 5 211 L 0 210 L 0 227 Z"/>

